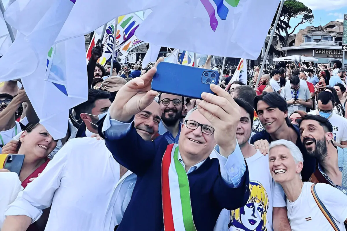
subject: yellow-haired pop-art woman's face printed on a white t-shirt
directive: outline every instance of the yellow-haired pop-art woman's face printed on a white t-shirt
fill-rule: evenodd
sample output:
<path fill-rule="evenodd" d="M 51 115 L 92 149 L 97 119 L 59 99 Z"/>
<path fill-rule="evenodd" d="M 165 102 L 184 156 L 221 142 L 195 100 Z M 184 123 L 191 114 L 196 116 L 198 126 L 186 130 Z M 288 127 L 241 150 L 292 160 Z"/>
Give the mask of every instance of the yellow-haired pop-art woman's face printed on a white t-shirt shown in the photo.
<path fill-rule="evenodd" d="M 230 212 L 229 230 L 265 231 L 269 198 L 265 188 L 257 181 L 249 182 L 246 205 Z"/>

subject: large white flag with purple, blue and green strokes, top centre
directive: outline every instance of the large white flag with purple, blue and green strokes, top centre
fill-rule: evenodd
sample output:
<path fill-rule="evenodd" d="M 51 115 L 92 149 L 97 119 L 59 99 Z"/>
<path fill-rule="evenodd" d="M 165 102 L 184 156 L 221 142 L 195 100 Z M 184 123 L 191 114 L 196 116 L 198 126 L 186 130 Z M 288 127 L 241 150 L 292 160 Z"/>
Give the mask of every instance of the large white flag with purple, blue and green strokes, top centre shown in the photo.
<path fill-rule="evenodd" d="M 135 35 L 164 47 L 255 60 L 278 4 L 279 0 L 171 0 L 153 8 Z"/>

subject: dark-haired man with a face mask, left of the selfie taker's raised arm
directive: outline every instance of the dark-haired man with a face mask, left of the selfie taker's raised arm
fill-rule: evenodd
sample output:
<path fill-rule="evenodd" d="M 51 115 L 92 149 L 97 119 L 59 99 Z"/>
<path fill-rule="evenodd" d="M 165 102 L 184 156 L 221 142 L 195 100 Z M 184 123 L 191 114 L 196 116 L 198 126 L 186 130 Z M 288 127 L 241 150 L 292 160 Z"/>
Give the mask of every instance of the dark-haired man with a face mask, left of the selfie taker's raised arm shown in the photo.
<path fill-rule="evenodd" d="M 91 137 L 98 134 L 98 126 L 96 125 L 99 122 L 98 115 L 107 112 L 111 106 L 110 96 L 107 91 L 89 89 L 88 100 L 74 108 L 77 116 L 83 120 L 78 128 L 76 138 Z"/>

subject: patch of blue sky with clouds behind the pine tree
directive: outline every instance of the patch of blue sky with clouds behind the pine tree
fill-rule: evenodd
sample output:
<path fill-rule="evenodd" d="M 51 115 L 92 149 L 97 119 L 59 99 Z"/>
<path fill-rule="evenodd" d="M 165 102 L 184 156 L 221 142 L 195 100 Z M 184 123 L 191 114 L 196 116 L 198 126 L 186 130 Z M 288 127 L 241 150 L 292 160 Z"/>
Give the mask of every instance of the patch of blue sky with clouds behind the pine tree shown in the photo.
<path fill-rule="evenodd" d="M 319 26 L 329 23 L 330 21 L 342 21 L 344 14 L 347 14 L 347 0 L 298 0 L 312 9 L 314 20 L 313 23 L 305 23 L 299 25 L 294 34 L 299 29 L 304 29 L 306 26 Z M 291 19 L 290 25 L 294 28 L 300 19 Z M 291 32 L 292 29 L 289 30 Z"/>

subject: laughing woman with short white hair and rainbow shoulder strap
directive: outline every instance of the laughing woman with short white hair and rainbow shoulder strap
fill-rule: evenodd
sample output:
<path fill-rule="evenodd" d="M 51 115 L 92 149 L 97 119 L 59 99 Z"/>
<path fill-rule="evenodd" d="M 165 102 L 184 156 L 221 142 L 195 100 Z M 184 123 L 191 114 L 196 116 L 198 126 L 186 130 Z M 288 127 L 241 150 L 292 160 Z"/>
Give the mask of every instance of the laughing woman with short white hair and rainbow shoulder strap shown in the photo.
<path fill-rule="evenodd" d="M 302 153 L 291 141 L 271 142 L 270 172 L 287 196 L 291 230 L 346 230 L 347 196 L 328 184 L 303 182 L 303 161 Z"/>

